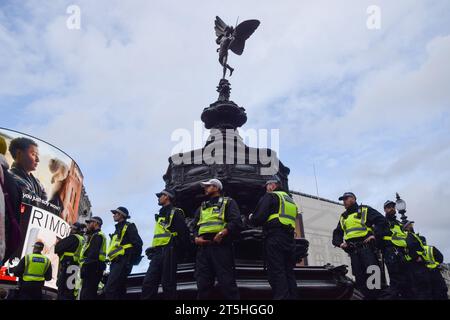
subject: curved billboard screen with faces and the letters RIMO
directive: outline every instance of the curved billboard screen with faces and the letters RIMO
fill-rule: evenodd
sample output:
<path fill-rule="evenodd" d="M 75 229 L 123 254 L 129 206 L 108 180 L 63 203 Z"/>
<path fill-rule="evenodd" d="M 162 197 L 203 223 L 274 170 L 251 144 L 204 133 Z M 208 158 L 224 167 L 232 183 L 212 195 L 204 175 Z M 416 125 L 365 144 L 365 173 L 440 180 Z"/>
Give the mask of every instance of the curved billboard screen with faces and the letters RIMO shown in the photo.
<path fill-rule="evenodd" d="M 33 160 L 27 162 L 28 155 L 13 155 L 9 150 L 11 141 L 17 138 L 31 139 L 36 144 L 30 151 Z M 17 265 L 20 258 L 32 253 L 33 244 L 39 240 L 45 244 L 43 254 L 50 258 L 53 267 L 53 278 L 46 286 L 56 288 L 58 256 L 54 247 L 59 239 L 69 235 L 70 225 L 78 220 L 83 175 L 67 154 L 42 140 L 3 128 L 0 128 L 0 139 L 6 141 L 8 151 L 4 158 L 13 182 L 21 190 L 16 215 L 20 241 L 12 257 L 4 261 L 0 280 L 11 279 L 4 275 L 5 268 Z M 29 143 L 29 140 L 22 141 Z"/>

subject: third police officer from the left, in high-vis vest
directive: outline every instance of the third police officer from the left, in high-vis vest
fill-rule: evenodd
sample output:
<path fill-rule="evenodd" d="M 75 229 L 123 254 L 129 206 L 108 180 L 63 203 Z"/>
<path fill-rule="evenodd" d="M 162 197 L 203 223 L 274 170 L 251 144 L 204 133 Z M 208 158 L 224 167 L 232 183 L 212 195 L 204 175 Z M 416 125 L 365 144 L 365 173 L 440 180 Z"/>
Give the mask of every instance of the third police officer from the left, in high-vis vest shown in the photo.
<path fill-rule="evenodd" d="M 106 236 L 101 227 L 103 220 L 92 217 L 86 220 L 87 235 L 80 255 L 80 300 L 96 300 L 98 284 L 106 269 Z"/>

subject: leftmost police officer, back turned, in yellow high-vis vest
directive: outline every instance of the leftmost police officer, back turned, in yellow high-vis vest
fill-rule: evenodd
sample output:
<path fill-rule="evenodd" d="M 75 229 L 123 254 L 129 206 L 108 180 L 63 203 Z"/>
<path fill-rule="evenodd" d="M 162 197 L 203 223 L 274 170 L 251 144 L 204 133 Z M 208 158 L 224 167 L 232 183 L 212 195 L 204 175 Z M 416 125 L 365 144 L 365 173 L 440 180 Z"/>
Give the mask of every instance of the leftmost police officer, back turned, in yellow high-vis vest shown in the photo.
<path fill-rule="evenodd" d="M 19 277 L 19 300 L 41 300 L 45 281 L 52 279 L 50 259 L 42 254 L 44 243 L 37 241 L 33 253 L 25 255 L 13 269 Z"/>

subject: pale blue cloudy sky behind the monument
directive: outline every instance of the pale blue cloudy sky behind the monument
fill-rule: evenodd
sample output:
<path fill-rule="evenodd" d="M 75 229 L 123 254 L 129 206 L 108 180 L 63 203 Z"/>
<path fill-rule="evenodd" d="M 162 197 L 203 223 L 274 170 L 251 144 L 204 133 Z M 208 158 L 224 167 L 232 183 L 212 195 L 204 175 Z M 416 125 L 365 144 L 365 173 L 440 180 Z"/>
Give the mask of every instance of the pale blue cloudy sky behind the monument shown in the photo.
<path fill-rule="evenodd" d="M 66 25 L 72 4 L 79 30 Z M 372 4 L 380 29 L 367 27 Z M 230 56 L 232 99 L 244 128 L 280 129 L 291 189 L 316 193 L 314 164 L 325 198 L 352 190 L 382 210 L 399 192 L 448 261 L 446 0 L 3 0 L 0 126 L 69 153 L 94 214 L 127 206 L 149 244 L 171 134 L 193 130 L 217 97 L 216 15 L 261 20 L 244 55 Z"/>

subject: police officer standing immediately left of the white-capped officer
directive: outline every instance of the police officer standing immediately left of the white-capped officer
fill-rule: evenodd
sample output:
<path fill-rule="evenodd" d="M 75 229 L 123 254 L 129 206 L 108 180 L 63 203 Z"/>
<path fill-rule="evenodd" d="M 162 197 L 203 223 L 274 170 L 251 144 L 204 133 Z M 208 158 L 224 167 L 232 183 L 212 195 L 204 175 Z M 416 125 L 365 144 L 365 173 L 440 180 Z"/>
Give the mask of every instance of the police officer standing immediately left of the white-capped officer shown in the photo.
<path fill-rule="evenodd" d="M 142 300 L 156 299 L 159 284 L 166 300 L 177 298 L 177 262 L 189 243 L 189 230 L 182 209 L 173 205 L 175 195 L 164 189 L 156 194 L 158 205 L 152 246 L 146 250 L 150 265 L 142 283 Z"/>

